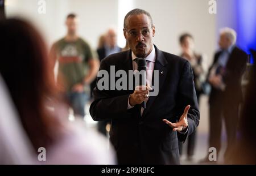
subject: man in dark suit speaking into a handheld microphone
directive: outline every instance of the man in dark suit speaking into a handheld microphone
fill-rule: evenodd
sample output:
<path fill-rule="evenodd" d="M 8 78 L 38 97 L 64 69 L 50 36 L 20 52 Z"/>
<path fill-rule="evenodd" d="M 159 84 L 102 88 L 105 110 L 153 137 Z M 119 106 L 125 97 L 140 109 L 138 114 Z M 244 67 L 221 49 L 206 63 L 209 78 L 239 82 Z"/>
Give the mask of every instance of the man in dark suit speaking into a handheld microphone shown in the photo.
<path fill-rule="evenodd" d="M 155 27 L 144 10 L 136 8 L 125 16 L 123 34 L 131 50 L 103 59 L 100 72 L 112 74 L 114 67 L 116 72 L 128 74 L 137 70 L 138 58 L 143 58 L 147 61 L 147 86 L 102 89 L 100 83 L 106 78 L 98 74 L 90 114 L 94 121 L 111 119 L 110 141 L 119 164 L 179 164 L 178 139 L 185 141 L 199 124 L 191 66 L 185 59 L 156 48 L 152 43 Z M 110 75 L 107 80 L 111 79 Z M 118 79 L 114 78 L 115 83 Z M 133 84 L 133 78 L 126 81 L 127 87 Z M 148 97 L 151 83 L 151 92 L 158 89 L 158 95 Z"/>

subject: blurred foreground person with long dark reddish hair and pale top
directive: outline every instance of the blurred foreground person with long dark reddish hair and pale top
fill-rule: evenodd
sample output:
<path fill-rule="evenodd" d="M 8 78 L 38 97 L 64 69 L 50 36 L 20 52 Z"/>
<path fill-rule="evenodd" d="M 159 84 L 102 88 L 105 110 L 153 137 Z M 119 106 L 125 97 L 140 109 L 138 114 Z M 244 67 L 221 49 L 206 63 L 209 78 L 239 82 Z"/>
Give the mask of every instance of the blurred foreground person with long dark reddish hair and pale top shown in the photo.
<path fill-rule="evenodd" d="M 65 118 L 68 112 L 38 31 L 23 20 L 8 19 L 0 22 L 0 38 L 5 58 L 0 60 L 0 74 L 34 148 L 34 161 L 44 147 L 47 161 L 40 164 L 114 164 L 106 139 Z"/>

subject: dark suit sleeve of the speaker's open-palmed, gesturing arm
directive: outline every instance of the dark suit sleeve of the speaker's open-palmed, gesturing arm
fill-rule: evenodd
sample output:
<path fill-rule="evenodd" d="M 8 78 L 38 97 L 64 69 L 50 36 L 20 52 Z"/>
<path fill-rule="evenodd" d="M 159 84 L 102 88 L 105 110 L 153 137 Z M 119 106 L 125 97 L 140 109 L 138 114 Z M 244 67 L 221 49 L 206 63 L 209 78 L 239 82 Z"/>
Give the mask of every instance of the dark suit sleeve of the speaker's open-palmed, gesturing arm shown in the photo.
<path fill-rule="evenodd" d="M 196 98 L 193 71 L 188 61 L 184 63 L 179 81 L 179 93 L 177 96 L 177 117 L 180 117 L 187 105 L 191 105 L 188 111 L 188 131 L 185 134 L 177 133 L 180 141 L 185 141 L 187 135 L 192 134 L 199 125 L 200 113 Z"/>

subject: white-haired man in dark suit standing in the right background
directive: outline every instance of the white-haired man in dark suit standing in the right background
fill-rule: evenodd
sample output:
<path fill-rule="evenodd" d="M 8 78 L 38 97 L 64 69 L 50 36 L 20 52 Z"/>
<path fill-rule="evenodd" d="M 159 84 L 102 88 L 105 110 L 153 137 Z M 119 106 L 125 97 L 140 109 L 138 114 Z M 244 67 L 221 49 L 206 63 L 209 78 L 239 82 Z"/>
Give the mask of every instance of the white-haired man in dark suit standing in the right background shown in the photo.
<path fill-rule="evenodd" d="M 220 152 L 223 117 L 228 138 L 225 161 L 228 161 L 232 145 L 236 142 L 238 108 L 242 101 L 241 79 L 246 67 L 247 54 L 235 45 L 236 32 L 233 29 L 222 29 L 218 44 L 221 50 L 214 55 L 208 75 L 208 81 L 212 86 L 209 97 L 209 147 L 215 147 L 217 154 Z"/>

